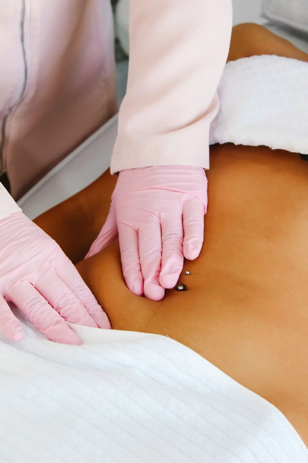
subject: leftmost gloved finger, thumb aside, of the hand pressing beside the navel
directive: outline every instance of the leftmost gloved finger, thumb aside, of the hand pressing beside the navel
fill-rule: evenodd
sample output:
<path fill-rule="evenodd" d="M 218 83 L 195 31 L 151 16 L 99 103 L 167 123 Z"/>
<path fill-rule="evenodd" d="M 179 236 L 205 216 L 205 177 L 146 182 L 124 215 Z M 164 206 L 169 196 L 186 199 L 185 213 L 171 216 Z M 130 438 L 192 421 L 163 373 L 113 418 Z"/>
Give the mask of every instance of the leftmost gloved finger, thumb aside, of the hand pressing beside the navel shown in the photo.
<path fill-rule="evenodd" d="M 133 294 L 143 294 L 143 278 L 139 259 L 138 232 L 129 225 L 118 224 L 119 244 L 124 280 Z"/>

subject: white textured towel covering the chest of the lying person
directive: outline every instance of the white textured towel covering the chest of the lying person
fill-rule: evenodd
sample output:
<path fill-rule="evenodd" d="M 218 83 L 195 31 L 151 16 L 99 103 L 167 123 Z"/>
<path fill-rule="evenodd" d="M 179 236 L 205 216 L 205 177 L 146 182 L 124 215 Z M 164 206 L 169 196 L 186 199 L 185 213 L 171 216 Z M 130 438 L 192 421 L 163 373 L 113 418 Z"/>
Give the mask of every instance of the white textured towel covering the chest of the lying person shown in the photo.
<path fill-rule="evenodd" d="M 308 154 L 308 63 L 251 56 L 227 63 L 210 144 L 265 145 Z"/>

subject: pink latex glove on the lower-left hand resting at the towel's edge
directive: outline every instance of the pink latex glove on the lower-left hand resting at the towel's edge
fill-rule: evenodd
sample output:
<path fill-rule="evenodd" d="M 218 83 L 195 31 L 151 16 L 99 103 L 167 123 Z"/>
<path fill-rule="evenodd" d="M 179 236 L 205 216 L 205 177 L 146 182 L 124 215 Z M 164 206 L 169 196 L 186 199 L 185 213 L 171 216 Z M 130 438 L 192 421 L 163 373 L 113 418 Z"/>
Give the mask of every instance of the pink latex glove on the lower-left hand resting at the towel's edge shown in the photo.
<path fill-rule="evenodd" d="M 51 341 L 82 344 L 66 324 L 110 328 L 109 319 L 58 244 L 16 212 L 0 220 L 0 333 L 23 337 L 12 301 Z"/>

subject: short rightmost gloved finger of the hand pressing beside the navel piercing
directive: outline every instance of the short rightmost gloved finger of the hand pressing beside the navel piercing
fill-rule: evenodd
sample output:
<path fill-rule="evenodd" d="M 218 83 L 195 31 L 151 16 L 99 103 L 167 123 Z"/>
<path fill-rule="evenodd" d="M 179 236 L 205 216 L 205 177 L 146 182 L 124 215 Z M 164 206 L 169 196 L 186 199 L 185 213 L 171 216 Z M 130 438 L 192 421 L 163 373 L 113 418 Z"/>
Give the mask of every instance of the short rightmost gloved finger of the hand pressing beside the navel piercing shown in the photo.
<path fill-rule="evenodd" d="M 189 198 L 183 204 L 184 257 L 196 259 L 201 251 L 204 237 L 204 205 L 197 198 Z"/>

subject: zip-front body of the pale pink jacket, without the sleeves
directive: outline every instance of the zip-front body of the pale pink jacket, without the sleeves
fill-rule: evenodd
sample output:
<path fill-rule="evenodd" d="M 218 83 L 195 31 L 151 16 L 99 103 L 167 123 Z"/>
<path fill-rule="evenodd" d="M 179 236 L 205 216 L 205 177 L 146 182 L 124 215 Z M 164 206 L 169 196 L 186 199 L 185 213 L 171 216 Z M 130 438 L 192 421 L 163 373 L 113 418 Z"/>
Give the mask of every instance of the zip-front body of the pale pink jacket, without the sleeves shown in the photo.
<path fill-rule="evenodd" d="M 113 20 L 108 0 L 5 0 L 0 24 L 0 162 L 19 199 L 117 112 Z"/>

